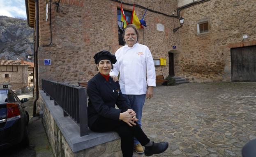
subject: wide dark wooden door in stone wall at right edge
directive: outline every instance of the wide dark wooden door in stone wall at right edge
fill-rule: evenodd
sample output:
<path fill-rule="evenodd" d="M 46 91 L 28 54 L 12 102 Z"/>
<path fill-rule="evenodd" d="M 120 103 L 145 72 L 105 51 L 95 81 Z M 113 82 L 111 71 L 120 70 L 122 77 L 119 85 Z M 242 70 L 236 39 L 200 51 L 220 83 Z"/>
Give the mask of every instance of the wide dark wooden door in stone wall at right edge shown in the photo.
<path fill-rule="evenodd" d="M 232 82 L 256 81 L 256 46 L 231 49 Z"/>

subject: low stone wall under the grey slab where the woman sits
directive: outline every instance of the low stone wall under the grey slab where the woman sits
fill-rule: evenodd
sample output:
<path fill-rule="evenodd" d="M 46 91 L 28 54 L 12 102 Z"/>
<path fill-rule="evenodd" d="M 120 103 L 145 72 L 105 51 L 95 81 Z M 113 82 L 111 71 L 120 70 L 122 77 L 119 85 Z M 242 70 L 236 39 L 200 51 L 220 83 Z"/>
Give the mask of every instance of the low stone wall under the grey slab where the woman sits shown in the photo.
<path fill-rule="evenodd" d="M 51 115 L 51 112 L 48 110 L 46 104 L 42 100 L 41 94 L 39 95 L 39 102 L 39 108 L 44 114 L 44 128 L 46 129 L 46 135 L 49 143 L 51 144 L 54 157 L 122 157 L 120 139 L 109 141 L 107 143 L 87 148 L 76 153 L 72 152 L 69 144 L 67 143 L 67 139 L 65 139 L 63 136 L 55 119 Z M 68 127 L 68 125 L 66 127 Z"/>

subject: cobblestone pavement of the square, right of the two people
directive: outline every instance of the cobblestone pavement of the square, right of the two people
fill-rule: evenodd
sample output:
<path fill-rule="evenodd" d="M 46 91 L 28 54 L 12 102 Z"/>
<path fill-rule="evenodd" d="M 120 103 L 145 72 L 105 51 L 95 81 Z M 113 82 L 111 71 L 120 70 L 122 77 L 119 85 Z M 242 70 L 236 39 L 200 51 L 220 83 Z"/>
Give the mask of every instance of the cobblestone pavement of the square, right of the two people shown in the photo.
<path fill-rule="evenodd" d="M 157 86 L 142 125 L 153 141 L 168 141 L 158 157 L 241 157 L 256 138 L 256 83 Z"/>

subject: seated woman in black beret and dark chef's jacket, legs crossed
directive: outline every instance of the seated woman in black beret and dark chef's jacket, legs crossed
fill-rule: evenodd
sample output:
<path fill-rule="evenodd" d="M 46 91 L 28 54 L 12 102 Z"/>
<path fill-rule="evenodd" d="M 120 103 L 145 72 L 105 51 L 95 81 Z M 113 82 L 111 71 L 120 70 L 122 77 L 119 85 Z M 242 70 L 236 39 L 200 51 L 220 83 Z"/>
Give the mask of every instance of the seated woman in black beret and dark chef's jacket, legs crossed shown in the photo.
<path fill-rule="evenodd" d="M 134 140 L 145 146 L 145 155 L 163 153 L 167 142 L 150 141 L 137 124 L 136 113 L 129 101 L 122 96 L 118 82 L 109 77 L 116 62 L 115 56 L 101 51 L 93 57 L 99 73 L 88 82 L 88 126 L 95 132 L 115 131 L 121 138 L 121 150 L 124 157 L 132 157 Z M 115 108 L 115 104 L 119 109 Z"/>

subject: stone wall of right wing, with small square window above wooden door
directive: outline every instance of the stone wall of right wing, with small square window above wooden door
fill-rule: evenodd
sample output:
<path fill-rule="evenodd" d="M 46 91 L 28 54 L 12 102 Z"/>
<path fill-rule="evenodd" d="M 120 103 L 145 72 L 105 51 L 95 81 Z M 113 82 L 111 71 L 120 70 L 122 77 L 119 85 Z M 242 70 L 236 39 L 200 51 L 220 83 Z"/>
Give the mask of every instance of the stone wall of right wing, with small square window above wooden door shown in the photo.
<path fill-rule="evenodd" d="M 231 82 L 231 48 L 256 45 L 255 10 L 254 0 L 210 0 L 183 9 L 176 74 L 195 82 Z M 198 34 L 197 22 L 203 19 L 209 32 Z M 243 40 L 244 34 L 249 38 Z"/>

